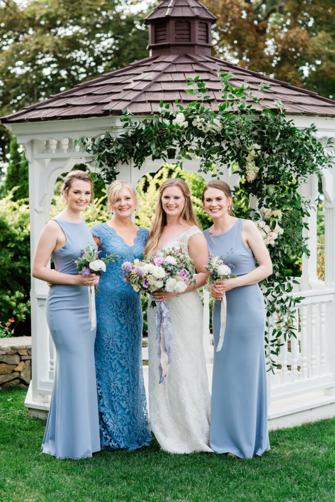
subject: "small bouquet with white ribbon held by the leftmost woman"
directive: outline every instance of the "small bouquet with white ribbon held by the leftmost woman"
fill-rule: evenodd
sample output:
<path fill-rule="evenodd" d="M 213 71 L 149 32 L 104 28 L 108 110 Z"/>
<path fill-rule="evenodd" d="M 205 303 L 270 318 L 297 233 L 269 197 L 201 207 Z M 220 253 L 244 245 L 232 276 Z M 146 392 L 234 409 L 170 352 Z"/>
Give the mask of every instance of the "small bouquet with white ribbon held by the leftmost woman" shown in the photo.
<path fill-rule="evenodd" d="M 101 275 L 101 272 L 106 271 L 106 263 L 113 263 L 117 257 L 111 253 L 105 258 L 99 259 L 99 253 L 96 247 L 92 244 L 87 244 L 86 247 L 81 249 L 81 256 L 76 260 L 72 260 L 77 267 L 78 274 L 88 277 L 90 274 Z M 96 313 L 95 313 L 95 295 L 99 289 L 97 285 L 88 286 L 88 318 L 91 321 L 91 330 L 96 327 Z"/>

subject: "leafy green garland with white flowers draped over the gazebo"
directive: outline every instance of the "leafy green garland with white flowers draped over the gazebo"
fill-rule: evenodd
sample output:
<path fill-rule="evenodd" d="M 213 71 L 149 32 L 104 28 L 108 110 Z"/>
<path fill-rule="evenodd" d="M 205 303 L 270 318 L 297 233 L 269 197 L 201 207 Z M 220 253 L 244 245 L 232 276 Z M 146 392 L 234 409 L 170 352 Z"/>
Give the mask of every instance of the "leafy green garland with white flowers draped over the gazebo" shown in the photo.
<path fill-rule="evenodd" d="M 299 130 L 285 117 L 280 101 L 276 111 L 262 104 L 250 87 L 233 88 L 231 75 L 219 73 L 222 102 L 217 111 L 207 104 L 210 96 L 206 84 L 198 77 L 188 78 L 186 92 L 194 101 L 186 107 L 175 101 L 160 102 L 153 116 L 138 117 L 125 112 L 122 134 L 106 132 L 94 139 L 81 138 L 80 147 L 93 156 L 106 182 L 115 179 L 118 164 L 141 168 L 148 157 L 168 161 L 171 150 L 182 167 L 183 160 L 199 159 L 199 172 L 220 177 L 222 170 L 232 168 L 240 174 L 233 188 L 239 204 L 236 215 L 257 224 L 273 261 L 273 274 L 262 282 L 267 309 L 266 355 L 269 367 L 276 365 L 274 356 L 280 351 L 281 337 L 296 336 L 292 316 L 299 298 L 290 293 L 298 282 L 285 273 L 284 257 L 309 254 L 302 229 L 306 226 L 310 202 L 303 200 L 299 186 L 309 175 L 320 174 L 330 165 L 326 148 L 317 140 L 316 127 Z M 269 86 L 261 84 L 259 91 Z M 258 109 L 254 104 L 258 105 Z M 251 199 L 254 201 L 251 204 Z M 255 203 L 256 202 L 256 203 Z"/>

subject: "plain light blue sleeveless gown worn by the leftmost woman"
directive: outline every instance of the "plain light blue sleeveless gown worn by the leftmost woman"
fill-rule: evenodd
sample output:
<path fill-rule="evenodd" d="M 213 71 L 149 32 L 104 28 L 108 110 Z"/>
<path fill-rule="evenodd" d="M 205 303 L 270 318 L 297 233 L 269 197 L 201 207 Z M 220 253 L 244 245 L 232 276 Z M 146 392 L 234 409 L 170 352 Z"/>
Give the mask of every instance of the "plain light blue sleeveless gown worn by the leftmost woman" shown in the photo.
<path fill-rule="evenodd" d="M 84 220 L 70 223 L 54 218 L 66 236 L 52 254 L 55 269 L 77 274 L 72 260 L 88 243 L 96 246 Z M 56 369 L 44 434 L 44 453 L 60 458 L 91 457 L 100 450 L 94 340 L 88 319 L 88 288 L 55 284 L 49 289 L 47 322 L 56 347 Z"/>

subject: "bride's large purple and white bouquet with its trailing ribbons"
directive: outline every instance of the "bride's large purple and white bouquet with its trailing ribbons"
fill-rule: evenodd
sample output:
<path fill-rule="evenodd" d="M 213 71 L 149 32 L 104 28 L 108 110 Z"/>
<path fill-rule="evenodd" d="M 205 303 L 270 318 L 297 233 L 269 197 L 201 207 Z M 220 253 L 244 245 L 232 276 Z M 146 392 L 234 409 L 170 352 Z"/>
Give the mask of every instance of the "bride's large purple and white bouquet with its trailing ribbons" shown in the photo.
<path fill-rule="evenodd" d="M 181 248 L 162 249 L 150 260 L 134 260 L 122 264 L 127 284 L 137 293 L 183 293 L 192 282 L 194 263 Z M 195 281 L 194 281 L 195 282 Z M 151 302 L 151 307 L 155 303 Z M 156 343 L 158 347 L 159 383 L 169 372 L 172 362 L 172 325 L 169 305 L 166 301 L 156 302 Z M 167 356 L 167 357 L 166 357 Z"/>

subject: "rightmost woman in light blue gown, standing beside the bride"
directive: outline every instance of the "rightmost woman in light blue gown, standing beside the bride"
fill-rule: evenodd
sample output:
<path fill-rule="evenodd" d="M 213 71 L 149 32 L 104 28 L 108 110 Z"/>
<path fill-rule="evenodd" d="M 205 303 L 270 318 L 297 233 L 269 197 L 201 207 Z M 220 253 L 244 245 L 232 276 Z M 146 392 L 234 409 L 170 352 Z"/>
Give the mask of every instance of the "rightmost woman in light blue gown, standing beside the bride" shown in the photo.
<path fill-rule="evenodd" d="M 223 181 L 211 181 L 202 201 L 213 225 L 204 231 L 209 253 L 234 265 L 237 278 L 216 281 L 210 292 L 213 307 L 214 360 L 211 394 L 210 447 L 240 458 L 270 449 L 264 353 L 265 307 L 258 282 L 272 273 L 271 259 L 251 220 L 230 214 L 232 194 Z M 255 268 L 255 258 L 259 266 Z M 227 321 L 222 348 L 220 333 L 223 294 Z"/>

